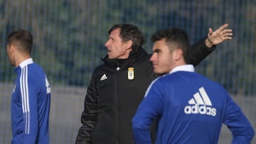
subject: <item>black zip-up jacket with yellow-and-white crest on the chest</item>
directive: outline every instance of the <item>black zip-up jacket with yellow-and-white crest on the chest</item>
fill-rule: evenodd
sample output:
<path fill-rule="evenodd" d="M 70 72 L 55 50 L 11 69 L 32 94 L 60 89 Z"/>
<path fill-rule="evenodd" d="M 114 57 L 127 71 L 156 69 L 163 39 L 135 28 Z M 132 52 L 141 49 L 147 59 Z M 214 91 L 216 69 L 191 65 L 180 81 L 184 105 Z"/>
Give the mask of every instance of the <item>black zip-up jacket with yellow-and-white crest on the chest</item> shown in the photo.
<path fill-rule="evenodd" d="M 204 40 L 191 48 L 191 64 L 198 65 L 215 48 Z M 76 143 L 132 144 L 132 117 L 156 75 L 144 49 L 131 52 L 128 59 L 103 59 L 95 69 L 85 96 L 82 126 Z"/>

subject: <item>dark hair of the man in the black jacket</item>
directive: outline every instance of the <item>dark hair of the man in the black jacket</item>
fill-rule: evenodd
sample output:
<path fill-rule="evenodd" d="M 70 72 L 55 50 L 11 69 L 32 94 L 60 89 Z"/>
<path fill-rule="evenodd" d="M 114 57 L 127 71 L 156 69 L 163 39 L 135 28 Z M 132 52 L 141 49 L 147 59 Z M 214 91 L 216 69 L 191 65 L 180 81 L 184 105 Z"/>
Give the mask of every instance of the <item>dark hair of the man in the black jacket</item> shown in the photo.
<path fill-rule="evenodd" d="M 137 51 L 139 48 L 142 47 L 145 40 L 142 35 L 142 32 L 139 31 L 139 28 L 137 26 L 134 26 L 130 23 L 115 24 L 108 31 L 109 35 L 112 31 L 114 31 L 117 28 L 120 28 L 120 38 L 124 43 L 128 40 L 132 40 L 133 51 Z"/>

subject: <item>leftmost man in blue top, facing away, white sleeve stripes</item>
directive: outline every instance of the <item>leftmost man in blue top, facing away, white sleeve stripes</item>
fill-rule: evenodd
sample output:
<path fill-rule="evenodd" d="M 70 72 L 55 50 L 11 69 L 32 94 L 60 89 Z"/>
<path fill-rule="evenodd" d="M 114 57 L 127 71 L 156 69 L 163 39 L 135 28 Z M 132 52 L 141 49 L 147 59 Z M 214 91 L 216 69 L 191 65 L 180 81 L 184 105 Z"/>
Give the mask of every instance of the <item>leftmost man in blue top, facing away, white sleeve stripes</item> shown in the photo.
<path fill-rule="evenodd" d="M 11 143 L 48 144 L 50 84 L 31 58 L 32 45 L 28 31 L 13 31 L 8 36 L 6 50 L 17 74 L 11 96 Z"/>

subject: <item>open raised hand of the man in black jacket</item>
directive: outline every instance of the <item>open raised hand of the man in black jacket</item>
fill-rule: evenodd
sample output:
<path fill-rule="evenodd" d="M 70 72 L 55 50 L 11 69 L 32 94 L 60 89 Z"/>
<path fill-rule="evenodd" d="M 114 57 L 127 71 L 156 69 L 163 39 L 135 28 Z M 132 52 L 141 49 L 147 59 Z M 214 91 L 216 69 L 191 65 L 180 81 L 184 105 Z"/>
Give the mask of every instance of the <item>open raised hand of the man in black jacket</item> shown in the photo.
<path fill-rule="evenodd" d="M 225 40 L 232 39 L 232 29 L 225 29 L 228 28 L 228 23 L 220 26 L 216 31 L 213 31 L 212 28 L 209 28 L 208 37 L 206 38 L 206 46 L 211 48 L 213 45 L 218 45 L 223 43 Z"/>

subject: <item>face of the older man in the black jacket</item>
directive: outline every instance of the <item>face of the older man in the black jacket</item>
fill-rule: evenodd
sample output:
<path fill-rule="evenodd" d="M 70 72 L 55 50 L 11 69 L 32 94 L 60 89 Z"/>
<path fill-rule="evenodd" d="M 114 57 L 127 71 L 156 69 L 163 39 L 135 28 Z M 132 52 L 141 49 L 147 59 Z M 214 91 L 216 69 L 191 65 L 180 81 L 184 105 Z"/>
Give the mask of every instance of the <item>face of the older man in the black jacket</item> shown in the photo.
<path fill-rule="evenodd" d="M 123 43 L 122 39 L 119 37 L 120 28 L 114 29 L 110 35 L 109 39 L 105 43 L 107 48 L 108 58 L 114 59 L 126 59 L 129 57 L 129 52 L 131 48 L 127 43 Z"/>

